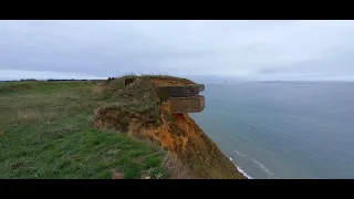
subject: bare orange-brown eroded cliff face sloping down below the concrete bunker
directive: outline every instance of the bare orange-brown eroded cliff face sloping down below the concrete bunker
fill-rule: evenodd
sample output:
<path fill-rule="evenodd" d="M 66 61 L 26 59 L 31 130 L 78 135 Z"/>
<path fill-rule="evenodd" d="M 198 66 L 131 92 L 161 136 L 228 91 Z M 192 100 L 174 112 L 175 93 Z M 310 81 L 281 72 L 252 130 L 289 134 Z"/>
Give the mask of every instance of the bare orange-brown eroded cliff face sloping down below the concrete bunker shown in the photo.
<path fill-rule="evenodd" d="M 185 164 L 196 178 L 243 178 L 188 114 L 171 115 L 168 107 L 164 106 L 162 121 L 160 126 L 150 128 L 136 128 L 136 122 L 133 122 L 129 134 L 159 143 Z"/>

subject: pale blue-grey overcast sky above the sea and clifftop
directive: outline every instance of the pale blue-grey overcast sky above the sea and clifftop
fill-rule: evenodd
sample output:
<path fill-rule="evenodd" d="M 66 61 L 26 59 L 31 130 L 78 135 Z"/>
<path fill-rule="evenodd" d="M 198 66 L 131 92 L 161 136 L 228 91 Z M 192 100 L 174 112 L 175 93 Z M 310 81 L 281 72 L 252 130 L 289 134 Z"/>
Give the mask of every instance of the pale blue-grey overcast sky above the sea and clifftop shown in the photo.
<path fill-rule="evenodd" d="M 354 80 L 353 21 L 0 21 L 0 78 Z"/>

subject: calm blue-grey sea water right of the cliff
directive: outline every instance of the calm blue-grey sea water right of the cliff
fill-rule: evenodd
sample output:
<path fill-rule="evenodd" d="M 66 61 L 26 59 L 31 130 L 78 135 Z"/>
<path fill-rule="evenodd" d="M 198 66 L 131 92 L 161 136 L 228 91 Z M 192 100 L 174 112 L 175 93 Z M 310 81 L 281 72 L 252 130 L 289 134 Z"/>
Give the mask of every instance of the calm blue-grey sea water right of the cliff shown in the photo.
<path fill-rule="evenodd" d="M 251 178 L 354 178 L 354 83 L 205 85 L 190 116 Z"/>

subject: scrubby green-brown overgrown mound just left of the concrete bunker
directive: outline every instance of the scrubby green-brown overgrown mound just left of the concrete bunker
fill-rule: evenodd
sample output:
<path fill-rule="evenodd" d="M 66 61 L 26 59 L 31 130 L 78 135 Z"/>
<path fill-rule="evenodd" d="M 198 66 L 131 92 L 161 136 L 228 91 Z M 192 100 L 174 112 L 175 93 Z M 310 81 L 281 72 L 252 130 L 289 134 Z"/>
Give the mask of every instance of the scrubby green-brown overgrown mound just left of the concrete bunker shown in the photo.
<path fill-rule="evenodd" d="M 102 85 L 102 94 L 97 95 L 97 100 L 105 104 L 96 109 L 93 121 L 103 121 L 98 123 L 102 124 L 100 127 L 121 132 L 127 130 L 133 118 L 137 118 L 142 127 L 159 125 L 162 100 L 156 86 L 147 76 L 139 76 L 125 86 L 125 77 L 134 76 L 126 75 Z"/>

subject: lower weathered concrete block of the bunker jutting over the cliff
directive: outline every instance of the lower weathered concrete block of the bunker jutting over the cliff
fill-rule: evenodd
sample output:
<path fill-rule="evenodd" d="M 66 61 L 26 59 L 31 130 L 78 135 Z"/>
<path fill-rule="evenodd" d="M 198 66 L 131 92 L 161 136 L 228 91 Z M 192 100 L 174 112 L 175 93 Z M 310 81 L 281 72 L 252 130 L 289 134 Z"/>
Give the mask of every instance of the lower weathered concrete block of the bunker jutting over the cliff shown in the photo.
<path fill-rule="evenodd" d="M 170 97 L 168 103 L 171 114 L 199 113 L 205 108 L 205 97 L 201 95 Z"/>

